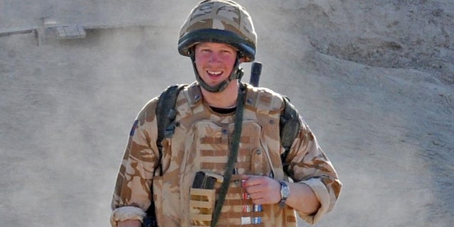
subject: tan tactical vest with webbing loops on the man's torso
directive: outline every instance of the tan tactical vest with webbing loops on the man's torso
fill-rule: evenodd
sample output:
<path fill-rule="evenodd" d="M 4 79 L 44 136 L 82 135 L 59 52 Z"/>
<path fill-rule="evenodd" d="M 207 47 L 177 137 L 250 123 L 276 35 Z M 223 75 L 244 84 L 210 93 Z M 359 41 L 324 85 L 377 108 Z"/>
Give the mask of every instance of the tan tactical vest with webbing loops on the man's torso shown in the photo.
<path fill-rule="evenodd" d="M 196 84 L 179 92 L 175 131 L 162 141 L 162 175 L 153 178 L 159 226 L 209 226 L 221 182 L 213 189 L 192 187 L 196 172 L 224 174 L 234 114 L 216 114 L 201 100 Z M 241 175 L 284 179 L 279 117 L 282 96 L 269 89 L 247 87 L 243 130 L 235 172 L 217 226 L 297 226 L 293 209 L 252 203 Z"/>

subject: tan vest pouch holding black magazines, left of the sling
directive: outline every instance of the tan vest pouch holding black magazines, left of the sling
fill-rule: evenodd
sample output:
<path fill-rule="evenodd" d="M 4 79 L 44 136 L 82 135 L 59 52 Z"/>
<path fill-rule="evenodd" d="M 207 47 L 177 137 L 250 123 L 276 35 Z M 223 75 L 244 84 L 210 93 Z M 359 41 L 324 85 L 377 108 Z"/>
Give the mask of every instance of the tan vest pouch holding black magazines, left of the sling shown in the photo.
<path fill-rule="evenodd" d="M 222 182 L 223 177 L 212 173 L 197 172 L 189 191 L 189 218 L 191 226 L 211 226 L 216 189 L 214 183 Z"/>

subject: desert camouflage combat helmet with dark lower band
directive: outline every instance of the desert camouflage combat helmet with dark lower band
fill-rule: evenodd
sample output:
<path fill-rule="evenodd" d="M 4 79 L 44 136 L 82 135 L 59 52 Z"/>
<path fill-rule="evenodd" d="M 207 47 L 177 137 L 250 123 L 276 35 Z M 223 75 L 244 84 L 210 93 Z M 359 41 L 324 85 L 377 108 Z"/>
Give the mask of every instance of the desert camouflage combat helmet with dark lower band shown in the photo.
<path fill-rule="evenodd" d="M 190 56 L 196 43 L 226 43 L 238 49 L 244 62 L 255 59 L 257 34 L 248 11 L 235 1 L 201 1 L 192 9 L 179 32 L 178 51 Z"/>

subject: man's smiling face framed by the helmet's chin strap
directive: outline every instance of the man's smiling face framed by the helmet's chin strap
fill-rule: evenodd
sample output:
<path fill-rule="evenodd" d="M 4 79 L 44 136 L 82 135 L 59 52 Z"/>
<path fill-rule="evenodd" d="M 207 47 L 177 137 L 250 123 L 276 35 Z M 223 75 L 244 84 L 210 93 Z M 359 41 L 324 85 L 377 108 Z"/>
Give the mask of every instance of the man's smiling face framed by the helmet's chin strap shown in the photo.
<path fill-rule="evenodd" d="M 236 61 L 237 50 L 224 43 L 199 43 L 195 47 L 196 69 L 209 86 L 226 80 Z"/>

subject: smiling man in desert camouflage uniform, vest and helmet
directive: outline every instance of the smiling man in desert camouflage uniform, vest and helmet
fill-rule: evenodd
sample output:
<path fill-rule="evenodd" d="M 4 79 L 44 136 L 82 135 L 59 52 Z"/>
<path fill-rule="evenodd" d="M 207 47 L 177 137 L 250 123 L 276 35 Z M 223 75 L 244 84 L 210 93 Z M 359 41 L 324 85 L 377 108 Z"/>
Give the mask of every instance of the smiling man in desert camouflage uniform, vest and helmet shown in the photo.
<path fill-rule="evenodd" d="M 159 97 L 138 114 L 112 226 L 140 226 L 153 204 L 158 226 L 297 226 L 297 214 L 314 224 L 333 209 L 341 182 L 309 127 L 289 121 L 297 134 L 284 148 L 282 114 L 291 104 L 240 82 L 240 63 L 254 60 L 256 43 L 250 15 L 236 2 L 202 1 L 192 10 L 178 50 L 191 58 L 196 82 L 177 94 L 175 129 L 162 143 Z"/>

